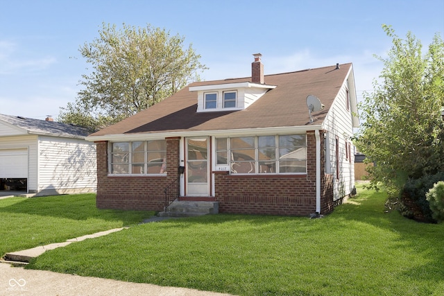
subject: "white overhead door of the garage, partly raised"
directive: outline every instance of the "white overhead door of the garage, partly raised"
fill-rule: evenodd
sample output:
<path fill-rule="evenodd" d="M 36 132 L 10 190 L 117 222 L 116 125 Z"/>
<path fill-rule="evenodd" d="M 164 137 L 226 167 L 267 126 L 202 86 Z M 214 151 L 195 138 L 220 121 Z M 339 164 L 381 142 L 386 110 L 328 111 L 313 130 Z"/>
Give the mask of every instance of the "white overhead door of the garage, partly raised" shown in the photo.
<path fill-rule="evenodd" d="M 0 178 L 28 177 L 28 149 L 0 150 Z"/>

